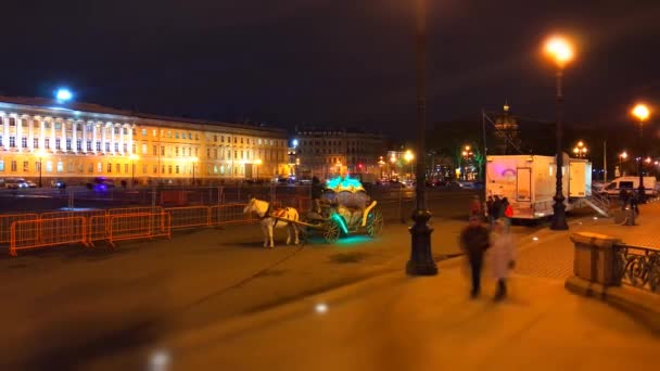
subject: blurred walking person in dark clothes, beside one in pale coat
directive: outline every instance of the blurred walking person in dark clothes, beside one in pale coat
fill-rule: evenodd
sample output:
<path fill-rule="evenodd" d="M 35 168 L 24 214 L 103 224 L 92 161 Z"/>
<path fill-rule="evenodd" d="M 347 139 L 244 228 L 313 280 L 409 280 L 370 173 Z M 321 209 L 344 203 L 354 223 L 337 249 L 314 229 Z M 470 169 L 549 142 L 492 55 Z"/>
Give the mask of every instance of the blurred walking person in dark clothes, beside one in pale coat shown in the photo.
<path fill-rule="evenodd" d="M 488 230 L 481 225 L 479 216 L 471 216 L 470 223 L 460 232 L 460 247 L 468 256 L 470 264 L 472 291 L 470 296 L 475 298 L 481 291 L 481 270 L 483 267 L 483 255 L 488 248 Z"/>

